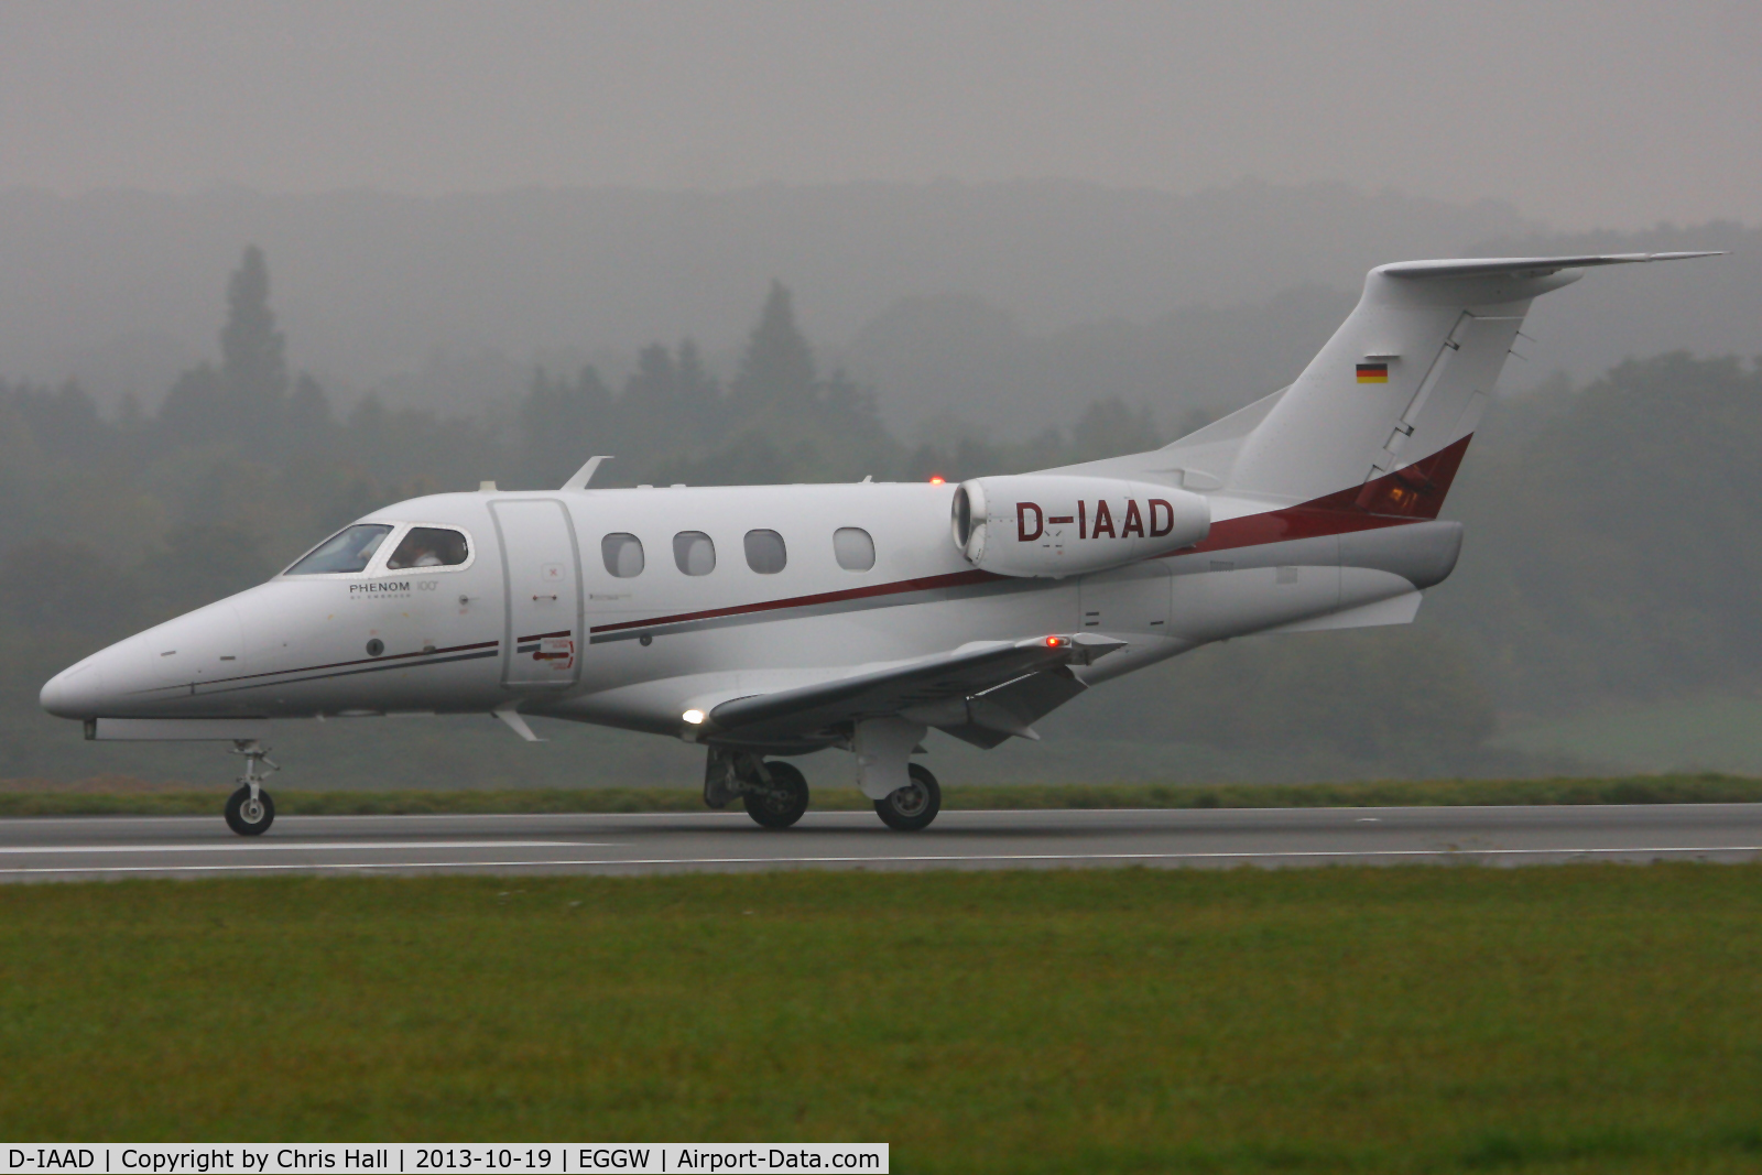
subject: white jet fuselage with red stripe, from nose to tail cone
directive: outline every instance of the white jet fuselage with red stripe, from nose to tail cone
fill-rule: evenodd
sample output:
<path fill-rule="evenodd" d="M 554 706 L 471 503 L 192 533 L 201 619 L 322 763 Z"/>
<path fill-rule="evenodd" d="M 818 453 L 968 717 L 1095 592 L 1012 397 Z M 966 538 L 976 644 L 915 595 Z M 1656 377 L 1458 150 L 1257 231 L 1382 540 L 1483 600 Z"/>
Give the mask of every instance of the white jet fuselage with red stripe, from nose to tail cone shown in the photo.
<path fill-rule="evenodd" d="M 1124 652 L 1080 671 L 1096 682 L 1209 639 L 1429 585 L 1343 569 L 1337 536 L 1255 544 L 1225 562 L 1210 551 L 1061 580 L 994 576 L 950 537 L 951 497 L 946 484 L 862 483 L 412 499 L 361 520 L 395 528 L 359 573 L 277 576 L 93 654 L 49 682 L 42 701 L 86 719 L 515 705 L 677 735 L 694 705 L 974 641 L 1084 629 L 1126 639 Z M 463 532 L 469 558 L 386 569 L 400 536 L 419 525 Z M 749 565 L 754 530 L 781 536 L 779 571 Z M 840 565 L 839 530 L 869 537 L 872 565 Z M 714 567 L 701 565 L 701 574 L 678 565 L 682 534 L 708 536 Z M 638 574 L 613 574 L 608 536 L 641 543 Z M 1276 548 L 1292 548 L 1292 562 L 1277 564 Z M 1258 558 L 1242 558 L 1253 550 Z"/>

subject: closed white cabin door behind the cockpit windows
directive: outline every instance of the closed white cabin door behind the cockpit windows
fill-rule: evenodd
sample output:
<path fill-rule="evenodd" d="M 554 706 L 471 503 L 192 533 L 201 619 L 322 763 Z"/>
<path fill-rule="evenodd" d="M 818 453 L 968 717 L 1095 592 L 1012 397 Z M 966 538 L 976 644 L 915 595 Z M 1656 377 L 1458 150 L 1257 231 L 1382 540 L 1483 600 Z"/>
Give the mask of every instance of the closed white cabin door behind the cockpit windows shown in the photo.
<path fill-rule="evenodd" d="M 502 541 L 507 632 L 502 684 L 564 687 L 581 676 L 581 560 L 555 499 L 490 502 Z"/>

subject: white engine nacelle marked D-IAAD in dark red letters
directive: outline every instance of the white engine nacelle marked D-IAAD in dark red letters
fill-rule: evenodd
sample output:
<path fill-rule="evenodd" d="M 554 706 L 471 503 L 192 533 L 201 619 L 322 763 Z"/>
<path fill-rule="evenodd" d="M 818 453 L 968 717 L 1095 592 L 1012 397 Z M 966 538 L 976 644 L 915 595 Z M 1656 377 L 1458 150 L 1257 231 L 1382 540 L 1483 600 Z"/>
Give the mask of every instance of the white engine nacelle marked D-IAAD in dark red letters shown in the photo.
<path fill-rule="evenodd" d="M 1144 481 L 1020 474 L 960 483 L 951 523 L 974 567 L 1059 578 L 1193 546 L 1210 532 L 1210 504 Z"/>

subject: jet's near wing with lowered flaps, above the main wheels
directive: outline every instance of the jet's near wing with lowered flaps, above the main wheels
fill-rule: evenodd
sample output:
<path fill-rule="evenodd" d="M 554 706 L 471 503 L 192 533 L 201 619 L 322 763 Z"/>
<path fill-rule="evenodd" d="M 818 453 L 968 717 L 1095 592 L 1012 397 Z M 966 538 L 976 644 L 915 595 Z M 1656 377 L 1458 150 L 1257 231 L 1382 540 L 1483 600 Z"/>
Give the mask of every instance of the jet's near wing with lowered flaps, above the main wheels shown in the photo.
<path fill-rule="evenodd" d="M 740 742 L 800 738 L 846 722 L 902 712 L 909 712 L 909 717 L 916 717 L 927 726 L 955 728 L 973 722 L 974 703 L 981 701 L 988 691 L 1011 687 L 1024 678 L 1033 680 L 1057 669 L 1062 669 L 1062 676 L 1075 687 L 1059 698 L 1064 701 L 1082 692 L 1082 684 L 1070 676 L 1070 666 L 1091 664 L 1096 657 L 1124 648 L 1124 641 L 1094 632 L 964 645 L 953 652 L 932 654 L 883 669 L 867 669 L 768 694 L 733 698 L 714 706 L 707 715 L 707 724 L 712 738 L 722 735 Z M 1029 692 L 1038 698 L 1047 691 Z M 1047 710 L 1050 708 L 1047 706 Z M 1003 735 L 1024 733 L 1025 722 L 1020 721 L 1024 713 L 1020 705 L 978 706 L 978 719 L 983 722 L 992 710 L 999 715 L 996 721 L 1006 724 Z"/>

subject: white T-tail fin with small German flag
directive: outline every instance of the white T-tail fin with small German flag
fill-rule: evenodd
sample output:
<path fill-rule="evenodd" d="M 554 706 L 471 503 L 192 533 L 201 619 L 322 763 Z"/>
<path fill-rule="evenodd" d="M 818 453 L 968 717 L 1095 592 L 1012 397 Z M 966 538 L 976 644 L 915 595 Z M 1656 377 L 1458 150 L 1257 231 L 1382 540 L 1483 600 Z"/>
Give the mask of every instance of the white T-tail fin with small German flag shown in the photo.
<path fill-rule="evenodd" d="M 1410 467 L 1434 483 L 1431 465 L 1455 472 L 1531 299 L 1579 280 L 1588 266 L 1706 255 L 1404 261 L 1371 270 L 1359 307 L 1240 439 L 1221 488 L 1290 506 L 1369 493 Z"/>

